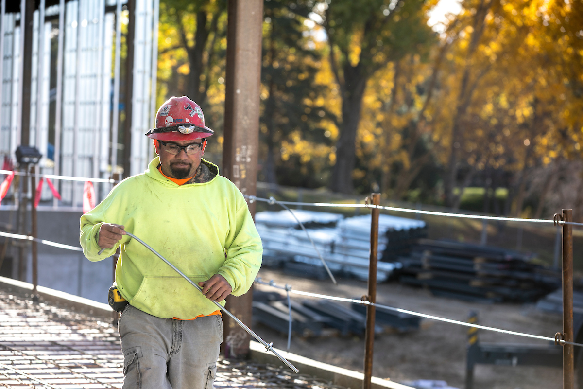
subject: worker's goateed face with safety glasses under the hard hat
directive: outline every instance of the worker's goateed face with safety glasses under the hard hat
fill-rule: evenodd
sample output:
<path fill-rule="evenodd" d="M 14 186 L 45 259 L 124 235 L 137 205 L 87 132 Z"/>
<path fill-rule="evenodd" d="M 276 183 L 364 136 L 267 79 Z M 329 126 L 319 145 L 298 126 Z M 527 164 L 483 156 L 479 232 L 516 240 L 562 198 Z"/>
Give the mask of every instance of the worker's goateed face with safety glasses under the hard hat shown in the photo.
<path fill-rule="evenodd" d="M 174 155 L 167 151 L 168 146 L 164 146 L 162 142 L 166 143 L 166 145 L 193 145 L 195 146 L 195 152 L 191 155 L 187 155 L 184 149 L 180 149 L 178 153 Z M 201 157 L 205 155 L 205 145 L 202 147 L 196 147 L 196 144 L 201 142 L 204 142 L 204 139 L 194 139 L 192 141 L 154 140 L 156 154 L 160 156 L 160 164 L 163 173 L 168 177 L 177 178 L 178 180 L 193 177 L 199 164 L 201 164 Z"/>

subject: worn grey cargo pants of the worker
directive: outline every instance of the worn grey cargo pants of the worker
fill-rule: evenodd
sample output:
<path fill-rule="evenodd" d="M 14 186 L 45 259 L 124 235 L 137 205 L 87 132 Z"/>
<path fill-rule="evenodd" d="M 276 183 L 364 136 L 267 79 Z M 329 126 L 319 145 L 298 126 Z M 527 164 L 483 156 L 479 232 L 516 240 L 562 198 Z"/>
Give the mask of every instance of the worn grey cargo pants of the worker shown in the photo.
<path fill-rule="evenodd" d="M 130 305 L 118 322 L 124 353 L 123 389 L 212 389 L 223 322 L 163 319 Z"/>

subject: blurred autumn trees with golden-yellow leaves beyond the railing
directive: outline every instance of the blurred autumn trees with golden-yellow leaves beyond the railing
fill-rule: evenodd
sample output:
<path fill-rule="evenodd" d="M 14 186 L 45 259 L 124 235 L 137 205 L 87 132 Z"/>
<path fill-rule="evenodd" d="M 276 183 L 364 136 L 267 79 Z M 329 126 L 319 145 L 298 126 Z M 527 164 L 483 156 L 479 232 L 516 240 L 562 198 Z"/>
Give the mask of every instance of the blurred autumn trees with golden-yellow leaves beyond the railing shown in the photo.
<path fill-rule="evenodd" d="M 436 3 L 266 1 L 260 178 L 453 207 L 467 186 L 504 187 L 495 212 L 543 215 L 581 160 L 583 0 L 464 0 L 432 30 Z M 159 100 L 191 94 L 219 123 L 225 7 L 160 15 Z"/>

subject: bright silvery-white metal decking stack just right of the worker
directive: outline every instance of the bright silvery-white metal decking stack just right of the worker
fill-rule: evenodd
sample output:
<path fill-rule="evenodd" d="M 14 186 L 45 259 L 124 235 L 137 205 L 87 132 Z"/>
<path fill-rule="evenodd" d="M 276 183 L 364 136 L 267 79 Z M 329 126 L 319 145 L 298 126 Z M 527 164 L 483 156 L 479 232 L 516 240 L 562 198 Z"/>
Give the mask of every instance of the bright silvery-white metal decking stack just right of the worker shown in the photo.
<path fill-rule="evenodd" d="M 370 249 L 370 215 L 342 215 L 304 210 L 292 211 L 307 229 L 332 272 L 366 280 Z M 255 222 L 264 244 L 264 265 L 283 267 L 291 274 L 327 278 L 310 239 L 298 229 L 289 211 L 258 212 Z M 427 235 L 423 221 L 381 215 L 379 220 L 377 279 L 386 281 L 400 265 L 387 262 L 406 254 L 410 244 Z M 382 253 L 382 254 L 381 254 Z"/>

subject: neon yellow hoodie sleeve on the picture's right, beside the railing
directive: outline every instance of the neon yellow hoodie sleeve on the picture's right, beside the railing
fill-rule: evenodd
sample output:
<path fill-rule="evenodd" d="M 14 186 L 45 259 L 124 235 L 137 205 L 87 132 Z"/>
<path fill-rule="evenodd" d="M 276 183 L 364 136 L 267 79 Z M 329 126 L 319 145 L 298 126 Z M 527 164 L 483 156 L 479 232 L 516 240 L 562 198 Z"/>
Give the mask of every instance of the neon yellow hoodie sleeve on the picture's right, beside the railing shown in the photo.
<path fill-rule="evenodd" d="M 238 190 L 236 190 L 238 192 Z M 261 237 L 255 228 L 247 202 L 238 192 L 237 212 L 232 239 L 226 242 L 226 259 L 217 272 L 233 288 L 234 296 L 241 296 L 251 288 L 263 257 Z"/>

